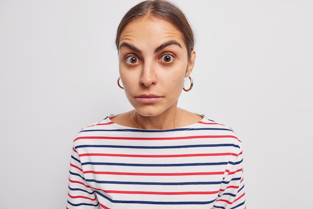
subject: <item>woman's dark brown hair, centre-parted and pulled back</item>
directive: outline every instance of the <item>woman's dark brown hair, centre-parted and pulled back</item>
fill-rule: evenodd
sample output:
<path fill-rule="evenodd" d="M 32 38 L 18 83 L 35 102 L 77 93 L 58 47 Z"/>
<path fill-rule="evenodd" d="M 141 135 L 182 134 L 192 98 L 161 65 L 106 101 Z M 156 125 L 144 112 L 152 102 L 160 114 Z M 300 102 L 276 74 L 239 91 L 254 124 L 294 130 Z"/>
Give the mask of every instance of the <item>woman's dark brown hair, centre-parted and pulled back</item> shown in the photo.
<path fill-rule="evenodd" d="M 184 13 L 176 5 L 166 0 L 146 0 L 130 8 L 119 22 L 116 31 L 115 44 L 117 49 L 120 34 L 125 26 L 142 16 L 154 16 L 173 24 L 181 32 L 190 58 L 194 46 L 193 31 Z"/>

